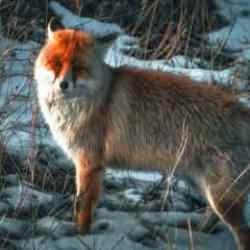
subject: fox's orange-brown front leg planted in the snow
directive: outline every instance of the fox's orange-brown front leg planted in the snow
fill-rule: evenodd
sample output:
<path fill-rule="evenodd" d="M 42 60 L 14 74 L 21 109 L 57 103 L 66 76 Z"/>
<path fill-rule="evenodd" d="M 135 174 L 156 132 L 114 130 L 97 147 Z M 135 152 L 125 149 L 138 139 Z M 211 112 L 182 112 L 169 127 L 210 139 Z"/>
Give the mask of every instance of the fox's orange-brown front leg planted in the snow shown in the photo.
<path fill-rule="evenodd" d="M 80 233 L 90 229 L 102 187 L 103 167 L 97 165 L 98 159 L 82 154 L 76 164 L 76 198 L 74 217 Z"/>

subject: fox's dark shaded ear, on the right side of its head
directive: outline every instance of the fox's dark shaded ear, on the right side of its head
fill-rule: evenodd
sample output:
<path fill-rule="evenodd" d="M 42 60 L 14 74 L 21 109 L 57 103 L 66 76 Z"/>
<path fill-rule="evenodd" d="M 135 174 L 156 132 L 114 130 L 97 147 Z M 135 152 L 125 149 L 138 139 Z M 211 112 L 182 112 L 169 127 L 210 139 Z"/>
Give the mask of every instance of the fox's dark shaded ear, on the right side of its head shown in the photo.
<path fill-rule="evenodd" d="M 111 47 L 112 43 L 118 37 L 118 33 L 108 34 L 106 36 L 96 38 L 95 46 L 98 54 L 104 59 L 106 52 Z"/>

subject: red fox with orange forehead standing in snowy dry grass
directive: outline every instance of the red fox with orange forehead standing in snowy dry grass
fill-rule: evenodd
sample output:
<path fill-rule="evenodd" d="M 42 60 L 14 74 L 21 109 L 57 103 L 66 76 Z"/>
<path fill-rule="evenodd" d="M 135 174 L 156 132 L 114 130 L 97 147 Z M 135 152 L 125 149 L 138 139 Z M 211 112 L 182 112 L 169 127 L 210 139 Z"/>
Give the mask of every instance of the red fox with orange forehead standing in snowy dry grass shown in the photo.
<path fill-rule="evenodd" d="M 76 167 L 79 230 L 90 229 L 106 165 L 175 166 L 194 180 L 238 249 L 249 249 L 250 111 L 231 92 L 185 76 L 113 68 L 103 61 L 106 47 L 83 31 L 50 30 L 34 68 L 42 113 Z"/>

